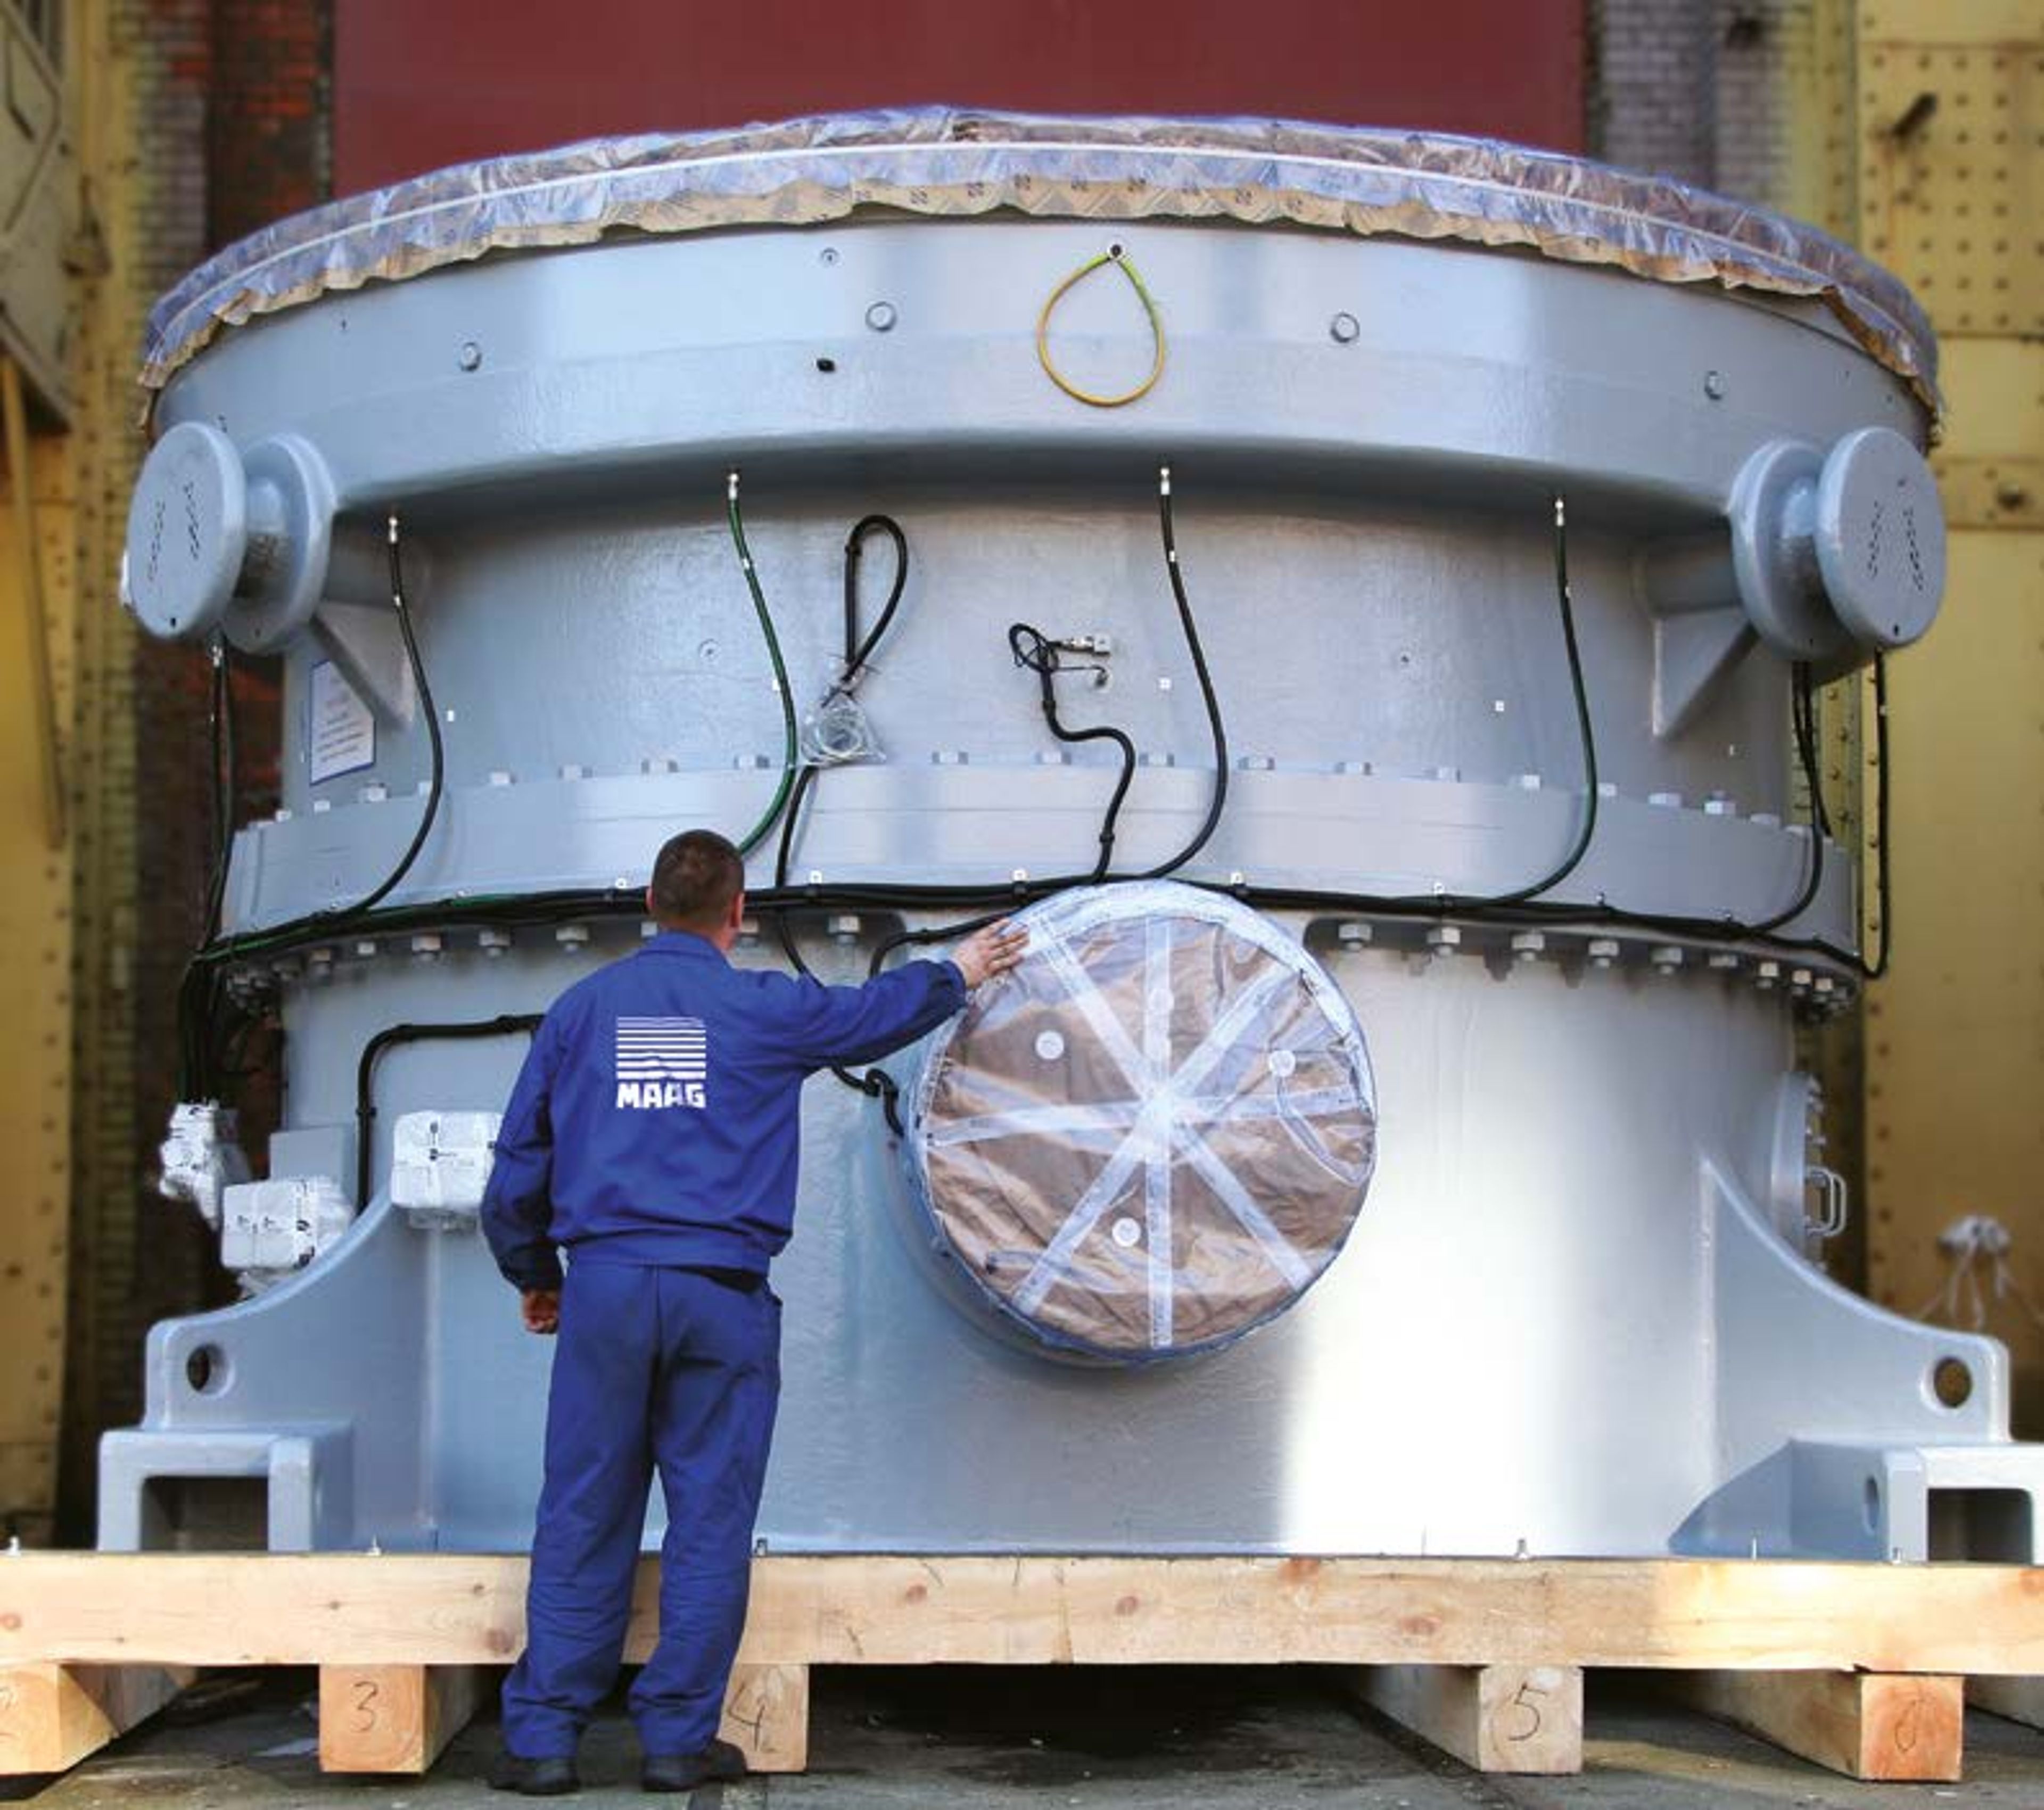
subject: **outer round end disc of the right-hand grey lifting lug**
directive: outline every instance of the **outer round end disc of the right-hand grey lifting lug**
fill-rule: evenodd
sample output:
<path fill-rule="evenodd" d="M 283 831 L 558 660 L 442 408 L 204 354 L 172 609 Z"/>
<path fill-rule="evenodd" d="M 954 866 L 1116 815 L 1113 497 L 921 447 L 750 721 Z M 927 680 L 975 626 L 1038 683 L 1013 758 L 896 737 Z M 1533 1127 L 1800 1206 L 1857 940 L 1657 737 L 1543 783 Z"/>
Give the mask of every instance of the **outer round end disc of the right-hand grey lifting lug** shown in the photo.
<path fill-rule="evenodd" d="M 1909 646 L 1944 597 L 1944 507 L 1930 466 L 1893 427 L 1860 427 L 1817 481 L 1817 567 L 1854 638 Z"/>

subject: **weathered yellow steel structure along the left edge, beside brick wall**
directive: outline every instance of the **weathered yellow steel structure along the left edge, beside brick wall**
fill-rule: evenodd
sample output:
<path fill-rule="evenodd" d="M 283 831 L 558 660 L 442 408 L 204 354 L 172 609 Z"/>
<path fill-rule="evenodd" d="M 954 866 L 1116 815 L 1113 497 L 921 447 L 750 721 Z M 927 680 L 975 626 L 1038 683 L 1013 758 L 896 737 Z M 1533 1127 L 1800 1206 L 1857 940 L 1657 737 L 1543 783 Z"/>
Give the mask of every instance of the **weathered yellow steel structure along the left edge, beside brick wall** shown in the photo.
<path fill-rule="evenodd" d="M 145 297 L 112 12 L 33 31 L 0 4 L 0 1534 L 25 1540 L 55 1511 L 76 1192 L 133 1190 L 131 1135 L 74 1137 L 86 1096 L 129 1090 L 133 638 L 110 605 Z"/>

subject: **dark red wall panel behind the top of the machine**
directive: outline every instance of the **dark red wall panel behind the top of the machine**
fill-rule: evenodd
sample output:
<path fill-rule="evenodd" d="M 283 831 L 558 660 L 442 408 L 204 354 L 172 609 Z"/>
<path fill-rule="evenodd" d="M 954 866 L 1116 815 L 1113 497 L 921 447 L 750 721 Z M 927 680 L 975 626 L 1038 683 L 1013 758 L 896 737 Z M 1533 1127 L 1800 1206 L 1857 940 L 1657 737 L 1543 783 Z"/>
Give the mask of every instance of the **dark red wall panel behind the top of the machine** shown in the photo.
<path fill-rule="evenodd" d="M 1584 143 L 1584 0 L 333 0 L 333 186 L 948 100 Z"/>

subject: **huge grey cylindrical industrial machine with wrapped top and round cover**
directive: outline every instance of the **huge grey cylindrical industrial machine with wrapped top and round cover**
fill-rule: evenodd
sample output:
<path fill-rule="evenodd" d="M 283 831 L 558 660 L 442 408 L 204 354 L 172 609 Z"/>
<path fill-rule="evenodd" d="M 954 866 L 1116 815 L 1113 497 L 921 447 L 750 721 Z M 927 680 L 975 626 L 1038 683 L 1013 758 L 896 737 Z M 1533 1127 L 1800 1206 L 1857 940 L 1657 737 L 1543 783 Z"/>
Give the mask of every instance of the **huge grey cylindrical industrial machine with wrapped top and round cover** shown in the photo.
<path fill-rule="evenodd" d="M 1036 926 L 809 1084 L 773 1548 L 2044 1558 L 2003 1350 L 1821 1268 L 1795 1029 L 1872 881 L 1809 699 L 1944 581 L 1930 331 L 1852 252 L 1504 145 L 924 110 L 286 221 L 145 380 L 127 597 L 280 652 L 286 755 L 166 1145 L 249 1293 L 151 1336 L 104 1546 L 525 1542 L 491 1115 L 715 824 L 740 961 Z"/>

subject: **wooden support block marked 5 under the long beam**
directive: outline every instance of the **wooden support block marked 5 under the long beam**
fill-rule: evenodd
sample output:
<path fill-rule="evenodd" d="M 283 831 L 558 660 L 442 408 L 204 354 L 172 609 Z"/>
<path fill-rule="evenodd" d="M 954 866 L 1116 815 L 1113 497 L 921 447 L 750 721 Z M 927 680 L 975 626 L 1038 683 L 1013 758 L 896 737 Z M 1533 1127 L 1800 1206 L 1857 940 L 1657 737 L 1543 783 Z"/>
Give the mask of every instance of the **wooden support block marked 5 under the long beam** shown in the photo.
<path fill-rule="evenodd" d="M 1582 1669 L 1374 1665 L 1365 1704 L 1480 1773 L 1582 1771 Z"/>

